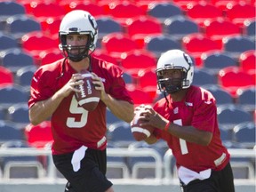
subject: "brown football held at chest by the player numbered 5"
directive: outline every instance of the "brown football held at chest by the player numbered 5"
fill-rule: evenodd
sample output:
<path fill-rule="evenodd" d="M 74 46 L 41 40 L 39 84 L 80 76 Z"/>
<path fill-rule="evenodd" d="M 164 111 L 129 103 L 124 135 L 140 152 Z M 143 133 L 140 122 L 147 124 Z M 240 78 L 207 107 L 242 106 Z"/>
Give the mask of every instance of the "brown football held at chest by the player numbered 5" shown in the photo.
<path fill-rule="evenodd" d="M 92 74 L 89 71 L 82 71 L 84 84 L 76 86 L 80 92 L 76 92 L 76 100 L 78 104 L 87 111 L 92 111 L 97 108 L 100 101 L 100 91 L 96 90 L 92 84 Z"/>

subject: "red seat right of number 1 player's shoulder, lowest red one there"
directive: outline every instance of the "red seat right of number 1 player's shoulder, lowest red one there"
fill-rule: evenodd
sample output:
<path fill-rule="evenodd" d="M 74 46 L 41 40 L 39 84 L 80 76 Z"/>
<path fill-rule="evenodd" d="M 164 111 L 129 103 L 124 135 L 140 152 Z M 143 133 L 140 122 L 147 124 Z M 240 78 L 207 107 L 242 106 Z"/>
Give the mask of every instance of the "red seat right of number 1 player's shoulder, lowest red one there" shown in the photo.
<path fill-rule="evenodd" d="M 239 88 L 250 87 L 255 84 L 254 79 L 239 67 L 222 68 L 218 74 L 220 86 L 237 97 L 236 90 Z"/>

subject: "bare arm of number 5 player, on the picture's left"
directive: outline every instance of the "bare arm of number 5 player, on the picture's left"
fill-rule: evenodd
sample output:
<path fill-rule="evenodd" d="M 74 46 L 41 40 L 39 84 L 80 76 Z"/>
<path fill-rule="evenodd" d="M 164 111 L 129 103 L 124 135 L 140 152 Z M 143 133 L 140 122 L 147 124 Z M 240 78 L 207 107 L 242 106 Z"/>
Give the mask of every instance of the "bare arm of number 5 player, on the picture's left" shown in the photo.
<path fill-rule="evenodd" d="M 31 124 L 40 124 L 43 121 L 47 120 L 56 108 L 59 107 L 60 102 L 65 98 L 68 97 L 70 92 L 79 92 L 75 88 L 75 85 L 83 84 L 82 76 L 79 74 L 74 74 L 67 84 L 65 84 L 58 92 L 55 92 L 51 98 L 48 100 L 41 100 L 36 102 L 31 108 L 29 108 L 28 116 Z"/>

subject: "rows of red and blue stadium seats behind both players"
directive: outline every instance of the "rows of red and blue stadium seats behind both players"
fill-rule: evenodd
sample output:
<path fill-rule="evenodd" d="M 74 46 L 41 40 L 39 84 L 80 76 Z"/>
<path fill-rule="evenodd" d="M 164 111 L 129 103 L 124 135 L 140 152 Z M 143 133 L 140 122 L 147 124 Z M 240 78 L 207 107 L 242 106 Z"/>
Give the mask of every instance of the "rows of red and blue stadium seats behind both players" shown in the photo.
<path fill-rule="evenodd" d="M 135 106 L 164 98 L 157 91 L 156 61 L 162 52 L 182 49 L 196 63 L 193 84 L 217 100 L 223 143 L 255 148 L 254 0 L 0 0 L 0 148 L 51 146 L 51 123 L 29 124 L 29 86 L 36 68 L 63 57 L 60 21 L 77 9 L 95 16 L 99 41 L 93 54 L 124 70 Z M 134 143 L 130 124 L 109 110 L 107 122 L 108 148 L 152 148 L 164 157 L 166 146 Z M 0 156 L 0 172 L 4 178 L 40 178 L 47 162 L 42 156 Z M 113 178 L 155 174 L 147 157 L 108 157 L 108 163 Z M 252 159 L 242 163 L 255 172 L 251 164 Z M 231 165 L 240 167 L 241 162 Z"/>

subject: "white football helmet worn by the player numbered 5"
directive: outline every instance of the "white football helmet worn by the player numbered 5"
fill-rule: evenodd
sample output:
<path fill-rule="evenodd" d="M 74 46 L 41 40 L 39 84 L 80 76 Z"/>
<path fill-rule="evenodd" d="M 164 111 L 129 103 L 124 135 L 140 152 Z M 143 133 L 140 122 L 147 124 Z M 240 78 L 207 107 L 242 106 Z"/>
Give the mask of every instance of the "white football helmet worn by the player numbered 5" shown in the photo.
<path fill-rule="evenodd" d="M 71 46 L 67 44 L 67 35 L 88 35 L 87 44 L 83 46 Z M 98 39 L 98 26 L 96 20 L 89 12 L 75 10 L 68 12 L 60 23 L 59 41 L 60 50 L 69 60 L 78 62 L 88 57 L 96 48 Z M 78 50 L 79 53 L 72 54 L 71 50 Z"/>

